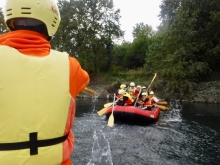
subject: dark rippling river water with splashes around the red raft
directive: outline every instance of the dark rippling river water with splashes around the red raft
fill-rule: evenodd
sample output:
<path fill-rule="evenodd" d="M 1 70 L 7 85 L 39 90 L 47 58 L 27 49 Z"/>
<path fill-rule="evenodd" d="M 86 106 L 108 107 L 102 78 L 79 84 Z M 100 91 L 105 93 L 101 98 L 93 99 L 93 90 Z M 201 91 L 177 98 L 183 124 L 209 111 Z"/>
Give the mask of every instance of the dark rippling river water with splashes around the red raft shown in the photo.
<path fill-rule="evenodd" d="M 219 165 L 220 105 L 170 102 L 149 126 L 107 126 L 106 100 L 77 99 L 74 165 Z M 109 101 L 111 102 L 111 101 Z"/>

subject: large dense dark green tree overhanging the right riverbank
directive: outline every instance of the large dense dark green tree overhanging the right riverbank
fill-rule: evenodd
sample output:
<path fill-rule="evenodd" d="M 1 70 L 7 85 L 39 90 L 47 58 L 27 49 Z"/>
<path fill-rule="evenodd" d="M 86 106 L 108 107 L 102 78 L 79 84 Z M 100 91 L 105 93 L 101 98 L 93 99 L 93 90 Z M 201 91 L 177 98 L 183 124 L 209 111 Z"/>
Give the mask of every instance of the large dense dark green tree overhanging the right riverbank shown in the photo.
<path fill-rule="evenodd" d="M 162 24 L 146 52 L 146 73 L 158 73 L 172 84 L 171 92 L 183 94 L 219 72 L 219 9 L 217 0 L 163 0 Z"/>

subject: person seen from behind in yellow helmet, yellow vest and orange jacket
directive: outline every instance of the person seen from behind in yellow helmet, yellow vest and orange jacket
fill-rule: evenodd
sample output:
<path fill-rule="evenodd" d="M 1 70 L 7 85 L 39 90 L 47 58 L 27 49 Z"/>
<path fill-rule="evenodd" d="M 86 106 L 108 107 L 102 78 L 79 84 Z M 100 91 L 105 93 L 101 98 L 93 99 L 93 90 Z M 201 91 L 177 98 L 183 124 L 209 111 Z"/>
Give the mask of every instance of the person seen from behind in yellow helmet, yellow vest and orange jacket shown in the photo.
<path fill-rule="evenodd" d="M 6 0 L 0 36 L 0 164 L 71 165 L 77 94 L 89 83 L 79 62 L 51 49 L 54 0 Z M 68 35 L 68 34 L 67 34 Z"/>

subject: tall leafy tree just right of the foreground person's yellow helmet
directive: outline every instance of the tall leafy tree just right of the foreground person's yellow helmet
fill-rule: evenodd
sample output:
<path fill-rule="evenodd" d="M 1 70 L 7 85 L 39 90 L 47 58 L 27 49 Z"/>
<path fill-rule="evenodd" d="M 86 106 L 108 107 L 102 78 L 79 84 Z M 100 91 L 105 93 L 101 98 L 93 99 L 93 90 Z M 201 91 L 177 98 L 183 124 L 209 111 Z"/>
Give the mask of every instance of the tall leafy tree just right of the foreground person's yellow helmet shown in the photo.
<path fill-rule="evenodd" d="M 123 36 L 113 1 L 59 0 L 58 5 L 62 20 L 53 48 L 77 57 L 89 73 L 110 70 L 113 39 Z"/>

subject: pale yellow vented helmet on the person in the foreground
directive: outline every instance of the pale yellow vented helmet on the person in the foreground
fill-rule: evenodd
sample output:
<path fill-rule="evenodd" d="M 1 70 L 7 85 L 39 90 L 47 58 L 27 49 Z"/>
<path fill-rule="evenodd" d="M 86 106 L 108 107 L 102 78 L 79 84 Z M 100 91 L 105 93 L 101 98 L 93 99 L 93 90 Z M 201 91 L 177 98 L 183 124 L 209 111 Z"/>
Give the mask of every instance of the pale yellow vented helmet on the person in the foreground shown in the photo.
<path fill-rule="evenodd" d="M 43 23 L 49 37 L 56 33 L 61 20 L 55 0 L 6 0 L 4 14 L 11 31 L 16 26 L 34 27 Z"/>

